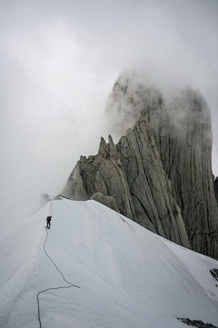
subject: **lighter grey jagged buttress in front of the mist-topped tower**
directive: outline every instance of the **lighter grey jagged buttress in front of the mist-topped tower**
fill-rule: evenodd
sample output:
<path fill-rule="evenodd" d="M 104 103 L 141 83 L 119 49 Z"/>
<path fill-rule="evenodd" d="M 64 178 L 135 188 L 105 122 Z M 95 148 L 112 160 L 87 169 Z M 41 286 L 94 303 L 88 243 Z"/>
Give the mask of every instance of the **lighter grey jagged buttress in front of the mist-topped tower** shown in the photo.
<path fill-rule="evenodd" d="M 74 181 L 75 171 L 79 174 L 78 184 Z M 108 144 L 102 138 L 98 154 L 81 156 L 62 194 L 83 199 L 84 191 L 86 199 L 96 193 L 112 196 L 121 214 L 190 248 L 180 208 L 173 199 L 154 133 L 145 117 L 127 131 L 119 144 L 114 145 L 109 135 Z M 107 205 L 103 198 L 100 203 Z"/>

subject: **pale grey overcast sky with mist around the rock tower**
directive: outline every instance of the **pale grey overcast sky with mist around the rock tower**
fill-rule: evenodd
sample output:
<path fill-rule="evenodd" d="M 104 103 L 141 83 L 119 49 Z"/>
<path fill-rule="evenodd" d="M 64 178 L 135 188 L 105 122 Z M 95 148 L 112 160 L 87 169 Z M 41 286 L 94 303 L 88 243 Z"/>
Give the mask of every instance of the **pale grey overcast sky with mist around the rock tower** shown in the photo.
<path fill-rule="evenodd" d="M 1 0 L 0 46 L 0 238 L 96 153 L 124 68 L 158 67 L 202 92 L 218 175 L 217 0 Z"/>

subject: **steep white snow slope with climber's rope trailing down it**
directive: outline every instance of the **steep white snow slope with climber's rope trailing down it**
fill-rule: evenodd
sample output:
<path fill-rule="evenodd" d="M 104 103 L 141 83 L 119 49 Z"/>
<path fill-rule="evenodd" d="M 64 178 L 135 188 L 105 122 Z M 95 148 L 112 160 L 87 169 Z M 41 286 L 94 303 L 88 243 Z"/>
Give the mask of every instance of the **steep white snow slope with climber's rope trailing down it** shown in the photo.
<path fill-rule="evenodd" d="M 45 217 L 52 214 L 46 238 Z M 45 250 L 54 261 L 47 257 Z M 0 244 L 1 327 L 218 325 L 218 262 L 173 244 L 94 201 L 54 201 Z"/>

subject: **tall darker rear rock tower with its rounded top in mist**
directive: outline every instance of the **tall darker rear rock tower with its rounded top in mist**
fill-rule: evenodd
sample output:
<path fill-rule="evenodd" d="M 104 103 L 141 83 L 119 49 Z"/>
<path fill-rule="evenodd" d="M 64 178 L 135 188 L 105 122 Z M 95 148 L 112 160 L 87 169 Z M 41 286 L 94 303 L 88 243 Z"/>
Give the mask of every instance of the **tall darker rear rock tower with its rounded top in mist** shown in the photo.
<path fill-rule="evenodd" d="M 218 258 L 218 208 L 212 173 L 211 113 L 199 91 L 185 88 L 163 94 L 147 84 L 129 84 L 124 77 L 114 84 L 107 114 L 134 124 L 143 114 L 154 132 L 165 174 L 172 194 L 181 209 L 183 222 L 193 250 Z M 123 94 L 122 94 L 123 93 Z M 114 103 L 114 104 L 113 104 Z M 132 111 L 126 110 L 132 106 Z M 118 123 L 117 123 L 118 124 Z M 117 125 L 115 128 L 119 133 Z M 114 131 L 116 133 L 117 131 Z M 124 131 L 123 131 L 124 132 Z"/>

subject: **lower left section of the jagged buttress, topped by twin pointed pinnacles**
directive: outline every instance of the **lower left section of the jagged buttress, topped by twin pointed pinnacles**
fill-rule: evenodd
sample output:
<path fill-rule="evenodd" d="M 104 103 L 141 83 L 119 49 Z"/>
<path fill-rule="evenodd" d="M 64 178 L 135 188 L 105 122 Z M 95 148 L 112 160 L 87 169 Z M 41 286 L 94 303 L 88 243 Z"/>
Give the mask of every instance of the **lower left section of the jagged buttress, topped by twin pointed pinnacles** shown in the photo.
<path fill-rule="evenodd" d="M 63 190 L 64 195 L 81 200 L 90 199 L 96 193 L 114 197 L 120 213 L 136 221 L 124 167 L 111 136 L 109 144 L 102 138 L 98 154 L 80 157 Z"/>

